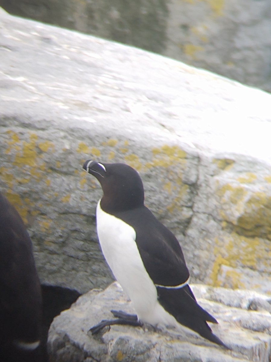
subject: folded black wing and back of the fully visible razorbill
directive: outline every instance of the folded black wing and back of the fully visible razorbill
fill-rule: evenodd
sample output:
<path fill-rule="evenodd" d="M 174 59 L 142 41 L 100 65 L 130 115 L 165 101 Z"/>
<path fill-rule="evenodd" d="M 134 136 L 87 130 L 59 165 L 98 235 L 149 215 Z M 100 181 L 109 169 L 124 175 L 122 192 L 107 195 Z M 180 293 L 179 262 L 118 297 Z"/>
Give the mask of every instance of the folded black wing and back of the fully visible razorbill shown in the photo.
<path fill-rule="evenodd" d="M 147 207 L 116 215 L 136 232 L 136 243 L 143 264 L 155 285 L 177 286 L 189 278 L 180 244 Z"/>

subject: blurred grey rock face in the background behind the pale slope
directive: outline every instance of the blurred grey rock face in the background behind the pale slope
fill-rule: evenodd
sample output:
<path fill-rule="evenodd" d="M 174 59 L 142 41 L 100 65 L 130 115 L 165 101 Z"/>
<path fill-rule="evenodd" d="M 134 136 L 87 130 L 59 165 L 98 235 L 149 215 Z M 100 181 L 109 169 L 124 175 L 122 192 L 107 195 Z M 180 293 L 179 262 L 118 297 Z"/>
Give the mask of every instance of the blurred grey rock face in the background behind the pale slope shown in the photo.
<path fill-rule="evenodd" d="M 7 11 L 133 45 L 271 91 L 269 0 L 0 0 Z"/>

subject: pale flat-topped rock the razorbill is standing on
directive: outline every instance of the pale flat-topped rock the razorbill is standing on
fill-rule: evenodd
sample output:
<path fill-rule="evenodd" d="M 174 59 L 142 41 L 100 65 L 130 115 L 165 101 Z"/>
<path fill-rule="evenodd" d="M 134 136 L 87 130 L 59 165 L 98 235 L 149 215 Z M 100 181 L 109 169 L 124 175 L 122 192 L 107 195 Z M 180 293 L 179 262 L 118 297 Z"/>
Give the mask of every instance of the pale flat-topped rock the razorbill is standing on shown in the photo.
<path fill-rule="evenodd" d="M 270 304 L 267 310 L 248 308 L 251 298 L 264 305 L 270 297 L 253 291 L 233 291 L 192 285 L 199 303 L 219 324 L 213 331 L 228 345 L 223 349 L 187 328 L 157 329 L 115 325 L 92 336 L 89 328 L 111 319 L 111 309 L 133 313 L 131 303 L 118 283 L 104 291 L 92 290 L 81 296 L 69 310 L 56 317 L 49 330 L 51 361 L 212 361 L 268 362 L 271 346 Z M 226 300 L 226 304 L 224 303 Z"/>

